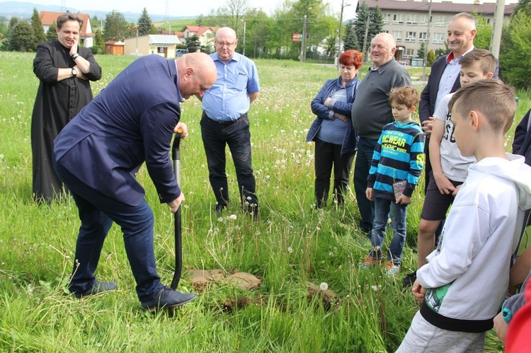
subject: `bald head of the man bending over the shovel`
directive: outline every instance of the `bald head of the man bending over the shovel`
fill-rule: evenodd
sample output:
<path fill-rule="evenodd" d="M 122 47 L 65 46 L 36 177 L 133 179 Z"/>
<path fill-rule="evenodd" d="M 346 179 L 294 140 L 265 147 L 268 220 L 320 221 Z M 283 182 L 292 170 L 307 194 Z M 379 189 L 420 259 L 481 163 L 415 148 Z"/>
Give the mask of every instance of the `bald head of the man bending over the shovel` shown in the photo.
<path fill-rule="evenodd" d="M 202 97 L 217 79 L 216 65 L 212 58 L 205 53 L 184 54 L 176 62 L 179 74 L 179 91 L 185 99 L 193 95 Z"/>

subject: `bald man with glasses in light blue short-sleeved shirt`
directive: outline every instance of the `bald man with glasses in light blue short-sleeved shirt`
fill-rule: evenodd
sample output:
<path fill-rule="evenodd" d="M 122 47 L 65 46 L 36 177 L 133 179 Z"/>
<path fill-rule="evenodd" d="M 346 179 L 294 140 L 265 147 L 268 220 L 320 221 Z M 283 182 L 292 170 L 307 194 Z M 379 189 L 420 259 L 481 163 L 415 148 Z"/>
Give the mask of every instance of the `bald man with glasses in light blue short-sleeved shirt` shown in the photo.
<path fill-rule="evenodd" d="M 202 97 L 201 134 L 207 154 L 210 185 L 216 197 L 216 213 L 229 204 L 225 172 L 225 146 L 228 144 L 236 168 L 241 202 L 258 219 L 256 183 L 251 166 L 251 132 L 247 112 L 258 97 L 260 83 L 256 65 L 234 52 L 238 40 L 232 28 L 219 28 L 216 52 L 210 57 L 217 69 L 217 80 Z"/>

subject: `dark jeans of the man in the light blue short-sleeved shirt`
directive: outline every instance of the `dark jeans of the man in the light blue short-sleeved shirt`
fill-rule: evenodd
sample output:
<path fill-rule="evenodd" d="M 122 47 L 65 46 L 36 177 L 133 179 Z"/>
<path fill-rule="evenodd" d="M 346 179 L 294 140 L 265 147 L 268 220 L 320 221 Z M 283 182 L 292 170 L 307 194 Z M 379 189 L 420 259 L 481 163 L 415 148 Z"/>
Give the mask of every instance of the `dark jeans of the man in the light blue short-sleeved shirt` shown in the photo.
<path fill-rule="evenodd" d="M 258 207 L 256 182 L 251 166 L 251 132 L 249 117 L 244 115 L 236 122 L 219 124 L 207 117 L 201 119 L 201 136 L 207 155 L 210 185 L 217 204 L 224 207 L 229 203 L 229 185 L 227 183 L 225 146 L 229 145 L 236 168 L 236 178 L 242 203 L 249 202 L 249 209 Z M 254 206 L 253 206 L 254 205 Z"/>

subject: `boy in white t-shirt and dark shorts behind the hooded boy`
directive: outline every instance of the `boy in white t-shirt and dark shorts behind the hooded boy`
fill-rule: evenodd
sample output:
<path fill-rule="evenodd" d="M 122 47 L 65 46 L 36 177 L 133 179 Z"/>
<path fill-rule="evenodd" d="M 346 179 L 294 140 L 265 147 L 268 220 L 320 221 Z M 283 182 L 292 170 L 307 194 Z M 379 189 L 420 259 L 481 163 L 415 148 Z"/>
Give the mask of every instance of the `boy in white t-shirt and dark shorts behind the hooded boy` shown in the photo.
<path fill-rule="evenodd" d="M 496 69 L 496 59 L 489 50 L 476 49 L 461 59 L 461 86 L 481 79 L 492 79 Z M 454 201 L 459 187 L 468 175 L 468 167 L 476 161 L 474 156 L 464 157 L 455 144 L 454 125 L 450 121 L 448 102 L 455 93 L 450 93 L 440 101 L 433 116 L 435 122 L 430 137 L 430 183 L 418 225 L 418 265 L 426 264 L 435 247 L 435 231 L 446 218 L 446 212 Z M 433 183 L 435 182 L 435 183 Z"/>

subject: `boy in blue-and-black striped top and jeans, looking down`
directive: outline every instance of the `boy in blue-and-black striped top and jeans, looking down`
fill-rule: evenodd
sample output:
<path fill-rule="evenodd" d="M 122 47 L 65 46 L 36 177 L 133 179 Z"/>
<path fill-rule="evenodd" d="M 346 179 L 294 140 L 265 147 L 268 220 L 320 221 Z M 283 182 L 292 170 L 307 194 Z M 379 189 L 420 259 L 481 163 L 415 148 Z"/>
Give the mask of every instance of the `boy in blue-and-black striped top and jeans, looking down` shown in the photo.
<path fill-rule="evenodd" d="M 367 178 L 367 199 L 375 203 L 370 241 L 372 249 L 361 267 L 382 263 L 382 244 L 389 211 L 392 207 L 393 238 L 387 252 L 386 273 L 400 270 L 406 241 L 407 206 L 423 168 L 424 136 L 421 125 L 412 120 L 420 100 L 411 86 L 393 88 L 389 93 L 394 122 L 384 126 L 375 146 Z"/>

